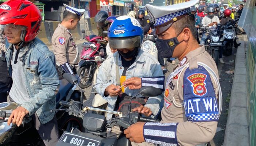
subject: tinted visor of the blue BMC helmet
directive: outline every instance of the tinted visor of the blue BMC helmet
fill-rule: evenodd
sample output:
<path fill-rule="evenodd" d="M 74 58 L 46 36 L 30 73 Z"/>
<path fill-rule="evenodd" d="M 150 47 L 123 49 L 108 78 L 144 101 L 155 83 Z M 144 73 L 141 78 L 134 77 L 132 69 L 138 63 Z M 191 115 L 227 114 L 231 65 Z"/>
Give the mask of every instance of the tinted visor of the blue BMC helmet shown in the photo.
<path fill-rule="evenodd" d="M 140 47 L 140 36 L 109 38 L 111 49 L 132 49 Z"/>

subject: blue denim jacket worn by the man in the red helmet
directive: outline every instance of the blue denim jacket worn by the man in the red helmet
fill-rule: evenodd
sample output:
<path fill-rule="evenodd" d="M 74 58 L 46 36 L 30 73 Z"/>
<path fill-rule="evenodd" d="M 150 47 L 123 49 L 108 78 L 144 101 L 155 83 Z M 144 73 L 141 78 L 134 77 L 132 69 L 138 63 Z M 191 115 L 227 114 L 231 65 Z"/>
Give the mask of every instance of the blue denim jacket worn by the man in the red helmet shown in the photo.
<path fill-rule="evenodd" d="M 8 74 L 12 76 L 11 59 L 13 45 L 7 44 L 5 58 Z M 38 38 L 28 44 L 20 61 L 26 75 L 26 87 L 30 100 L 21 106 L 29 111 L 29 116 L 37 114 L 40 122 L 45 124 L 52 120 L 55 109 L 55 95 L 59 86 L 59 76 L 55 69 L 54 54 Z"/>

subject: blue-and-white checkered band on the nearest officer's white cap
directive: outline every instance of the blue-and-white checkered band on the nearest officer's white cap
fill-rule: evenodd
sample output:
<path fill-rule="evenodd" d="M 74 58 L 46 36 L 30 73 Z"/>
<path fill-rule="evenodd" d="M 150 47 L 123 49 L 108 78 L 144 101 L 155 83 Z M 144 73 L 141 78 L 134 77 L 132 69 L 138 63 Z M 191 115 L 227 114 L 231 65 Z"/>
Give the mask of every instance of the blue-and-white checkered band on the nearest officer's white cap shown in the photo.
<path fill-rule="evenodd" d="M 172 20 L 175 17 L 187 14 L 189 12 L 190 12 L 190 9 L 187 8 L 187 9 L 183 9 L 183 10 L 178 11 L 178 12 L 174 12 L 172 14 L 168 14 L 168 15 L 162 16 L 162 17 L 156 19 L 156 22 L 155 22 L 154 26 L 159 26 L 159 25 L 161 25 L 163 23 L 166 23 L 166 22 Z"/>

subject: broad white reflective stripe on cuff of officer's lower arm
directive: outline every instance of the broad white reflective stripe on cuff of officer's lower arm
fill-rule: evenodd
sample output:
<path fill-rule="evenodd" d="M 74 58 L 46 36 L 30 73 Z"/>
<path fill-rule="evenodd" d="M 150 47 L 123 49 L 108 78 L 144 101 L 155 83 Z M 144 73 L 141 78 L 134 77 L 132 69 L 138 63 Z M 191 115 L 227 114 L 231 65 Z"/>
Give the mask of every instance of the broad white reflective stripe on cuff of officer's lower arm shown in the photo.
<path fill-rule="evenodd" d="M 155 136 L 155 137 L 175 138 L 174 131 L 144 129 L 144 135 L 151 135 L 151 136 Z"/>

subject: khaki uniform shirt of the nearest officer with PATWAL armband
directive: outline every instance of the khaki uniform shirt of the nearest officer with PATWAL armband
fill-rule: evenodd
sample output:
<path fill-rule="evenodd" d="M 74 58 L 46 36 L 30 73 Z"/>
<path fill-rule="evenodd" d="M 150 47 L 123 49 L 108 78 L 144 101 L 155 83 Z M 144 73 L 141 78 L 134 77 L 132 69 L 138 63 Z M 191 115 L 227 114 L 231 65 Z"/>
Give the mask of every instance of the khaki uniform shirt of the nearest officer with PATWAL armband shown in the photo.
<path fill-rule="evenodd" d="M 189 64 L 189 66 L 187 67 L 189 69 L 198 68 L 197 62 L 203 62 L 204 64 L 209 66 L 218 77 L 218 69 L 215 65 L 215 62 L 211 58 L 211 56 L 205 51 L 204 46 L 201 46 L 196 50 L 189 52 L 174 68 L 174 72 L 175 70 L 177 71 L 179 68 L 185 66 L 186 64 Z M 206 139 L 208 139 L 207 141 L 211 140 L 209 139 L 208 135 L 211 134 L 211 132 L 216 132 L 217 121 L 188 122 L 185 116 L 184 105 L 182 104 L 184 102 L 183 90 L 184 88 L 186 88 L 183 85 L 183 78 L 185 69 L 187 68 L 184 68 L 182 72 L 175 72 L 176 74 L 173 74 L 175 76 L 172 76 L 171 74 L 168 78 L 168 82 L 166 82 L 166 90 L 164 92 L 164 106 L 161 112 L 161 123 L 179 123 L 177 126 L 178 144 L 184 146 L 194 146 L 199 143 L 205 142 Z M 215 95 L 216 97 L 218 97 L 217 83 L 214 82 L 214 79 L 212 77 L 211 81 L 215 90 Z M 176 104 L 174 102 L 176 102 Z M 206 128 L 203 129 L 201 127 Z"/>

